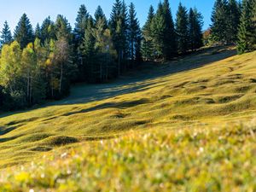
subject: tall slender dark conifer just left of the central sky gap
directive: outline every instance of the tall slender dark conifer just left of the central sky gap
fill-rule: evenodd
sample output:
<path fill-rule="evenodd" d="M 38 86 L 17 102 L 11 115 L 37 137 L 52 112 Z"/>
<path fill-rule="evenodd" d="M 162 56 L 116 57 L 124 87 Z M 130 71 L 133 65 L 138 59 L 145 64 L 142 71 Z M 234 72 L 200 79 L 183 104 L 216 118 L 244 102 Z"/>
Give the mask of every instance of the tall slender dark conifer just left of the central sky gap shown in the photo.
<path fill-rule="evenodd" d="M 129 57 L 133 61 L 139 61 L 140 45 L 141 45 L 141 29 L 137 14 L 133 3 L 129 6 L 129 20 L 128 20 L 128 42 L 129 42 Z"/>

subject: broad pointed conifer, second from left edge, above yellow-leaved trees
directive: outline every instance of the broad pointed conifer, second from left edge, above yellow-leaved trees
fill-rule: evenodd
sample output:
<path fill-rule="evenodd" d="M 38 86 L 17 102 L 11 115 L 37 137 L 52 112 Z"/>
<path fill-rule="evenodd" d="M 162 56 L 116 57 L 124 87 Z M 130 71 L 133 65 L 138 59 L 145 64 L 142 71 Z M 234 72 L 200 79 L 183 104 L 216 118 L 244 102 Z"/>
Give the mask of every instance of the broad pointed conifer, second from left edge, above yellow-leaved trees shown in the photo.
<path fill-rule="evenodd" d="M 26 14 L 21 16 L 20 21 L 15 28 L 15 41 L 20 44 L 21 49 L 34 41 L 32 25 Z"/>

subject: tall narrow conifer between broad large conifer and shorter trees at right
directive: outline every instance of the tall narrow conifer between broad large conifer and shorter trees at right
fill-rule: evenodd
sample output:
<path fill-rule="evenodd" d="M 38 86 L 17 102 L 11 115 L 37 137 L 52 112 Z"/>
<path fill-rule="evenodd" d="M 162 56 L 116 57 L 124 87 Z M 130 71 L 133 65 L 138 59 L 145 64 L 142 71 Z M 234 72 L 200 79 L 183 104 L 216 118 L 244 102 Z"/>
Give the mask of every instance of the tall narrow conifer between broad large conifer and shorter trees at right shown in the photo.
<path fill-rule="evenodd" d="M 176 32 L 177 32 L 177 50 L 184 54 L 189 49 L 189 29 L 188 29 L 188 14 L 187 9 L 179 3 L 176 17 Z"/>

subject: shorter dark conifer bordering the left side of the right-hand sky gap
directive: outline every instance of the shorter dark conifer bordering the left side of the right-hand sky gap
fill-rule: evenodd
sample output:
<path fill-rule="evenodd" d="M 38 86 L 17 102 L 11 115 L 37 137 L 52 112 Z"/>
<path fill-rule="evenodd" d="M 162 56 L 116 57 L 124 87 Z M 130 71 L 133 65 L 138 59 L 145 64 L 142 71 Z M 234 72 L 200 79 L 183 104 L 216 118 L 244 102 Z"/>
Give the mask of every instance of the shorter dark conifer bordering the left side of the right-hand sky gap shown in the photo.
<path fill-rule="evenodd" d="M 194 51 L 201 48 L 203 17 L 197 9 L 189 9 L 189 49 Z"/>

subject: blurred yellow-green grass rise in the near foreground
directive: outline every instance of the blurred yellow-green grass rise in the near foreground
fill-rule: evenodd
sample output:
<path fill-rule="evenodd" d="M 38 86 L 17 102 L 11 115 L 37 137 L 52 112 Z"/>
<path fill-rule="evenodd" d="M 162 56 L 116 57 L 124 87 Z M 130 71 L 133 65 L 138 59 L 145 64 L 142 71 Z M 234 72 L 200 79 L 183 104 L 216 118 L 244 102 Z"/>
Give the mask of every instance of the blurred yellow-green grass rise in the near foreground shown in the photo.
<path fill-rule="evenodd" d="M 130 132 L 4 170 L 0 191 L 253 192 L 255 155 L 255 122 Z"/>

